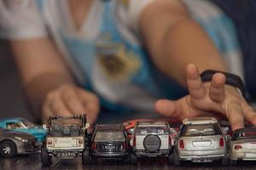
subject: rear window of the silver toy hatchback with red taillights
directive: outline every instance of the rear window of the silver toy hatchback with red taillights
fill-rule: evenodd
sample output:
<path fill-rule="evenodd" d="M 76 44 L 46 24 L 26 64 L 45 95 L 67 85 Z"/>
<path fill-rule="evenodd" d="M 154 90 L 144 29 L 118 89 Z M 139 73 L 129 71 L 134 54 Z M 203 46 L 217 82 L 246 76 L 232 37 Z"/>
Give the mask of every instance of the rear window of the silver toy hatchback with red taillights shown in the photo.
<path fill-rule="evenodd" d="M 212 136 L 221 135 L 216 124 L 184 125 L 181 136 Z"/>

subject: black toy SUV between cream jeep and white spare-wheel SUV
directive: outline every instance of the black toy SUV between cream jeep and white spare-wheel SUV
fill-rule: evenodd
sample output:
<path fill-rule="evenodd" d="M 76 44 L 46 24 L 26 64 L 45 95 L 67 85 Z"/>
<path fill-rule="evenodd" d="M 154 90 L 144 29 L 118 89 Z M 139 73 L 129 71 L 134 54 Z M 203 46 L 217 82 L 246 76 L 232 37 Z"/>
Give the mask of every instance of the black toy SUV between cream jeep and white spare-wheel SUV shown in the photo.
<path fill-rule="evenodd" d="M 90 140 L 90 160 L 112 159 L 134 163 L 130 140 L 122 124 L 97 124 Z M 87 159 L 88 160 L 88 159 Z"/>

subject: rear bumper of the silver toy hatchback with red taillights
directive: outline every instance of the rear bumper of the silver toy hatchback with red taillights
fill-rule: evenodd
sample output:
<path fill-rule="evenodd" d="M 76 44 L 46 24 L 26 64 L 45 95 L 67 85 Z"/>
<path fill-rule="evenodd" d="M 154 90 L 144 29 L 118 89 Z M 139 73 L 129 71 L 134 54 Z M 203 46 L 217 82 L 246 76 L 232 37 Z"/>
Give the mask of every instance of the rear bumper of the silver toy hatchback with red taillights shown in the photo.
<path fill-rule="evenodd" d="M 220 160 L 226 157 L 225 152 L 219 152 L 218 150 L 212 151 L 179 151 L 178 157 L 183 161 L 194 161 L 194 162 L 208 162 L 214 160 Z"/>

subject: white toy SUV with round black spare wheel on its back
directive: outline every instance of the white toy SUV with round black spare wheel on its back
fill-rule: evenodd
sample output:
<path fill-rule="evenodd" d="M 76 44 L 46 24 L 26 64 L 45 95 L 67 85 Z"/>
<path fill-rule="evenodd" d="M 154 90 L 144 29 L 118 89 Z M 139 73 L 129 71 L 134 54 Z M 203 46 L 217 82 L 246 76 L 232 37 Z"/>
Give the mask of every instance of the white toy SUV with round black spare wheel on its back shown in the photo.
<path fill-rule="evenodd" d="M 167 122 L 137 122 L 131 138 L 133 154 L 137 157 L 170 156 L 173 131 Z"/>

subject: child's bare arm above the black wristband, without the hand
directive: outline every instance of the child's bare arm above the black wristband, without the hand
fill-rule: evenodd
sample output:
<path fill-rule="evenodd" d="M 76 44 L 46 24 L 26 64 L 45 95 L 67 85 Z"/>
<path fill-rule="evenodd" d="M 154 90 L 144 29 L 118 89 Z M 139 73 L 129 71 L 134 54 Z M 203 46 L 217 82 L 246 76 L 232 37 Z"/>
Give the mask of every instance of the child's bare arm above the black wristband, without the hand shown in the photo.
<path fill-rule="evenodd" d="M 207 33 L 192 20 L 178 0 L 157 0 L 143 10 L 139 28 L 154 64 L 186 86 L 185 67 L 194 63 L 200 72 L 226 71 Z M 171 66 L 172 65 L 172 66 Z"/>

